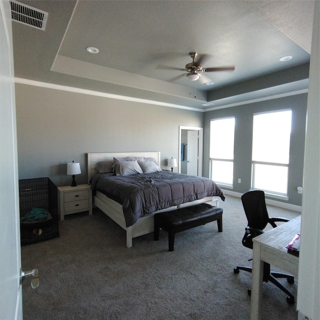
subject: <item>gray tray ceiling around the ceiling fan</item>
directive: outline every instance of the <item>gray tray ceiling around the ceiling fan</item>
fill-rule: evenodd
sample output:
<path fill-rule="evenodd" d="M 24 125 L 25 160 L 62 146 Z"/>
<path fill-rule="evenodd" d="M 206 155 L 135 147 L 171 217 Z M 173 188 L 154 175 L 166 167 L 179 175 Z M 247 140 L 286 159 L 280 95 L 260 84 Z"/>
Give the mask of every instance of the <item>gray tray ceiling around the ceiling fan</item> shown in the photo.
<path fill-rule="evenodd" d="M 19 78 L 195 109 L 307 88 L 313 0 L 20 2 L 48 19 L 44 31 L 12 22 Z M 206 73 L 210 86 L 172 81 L 183 71 L 163 66 L 183 69 L 191 51 L 235 70 Z"/>

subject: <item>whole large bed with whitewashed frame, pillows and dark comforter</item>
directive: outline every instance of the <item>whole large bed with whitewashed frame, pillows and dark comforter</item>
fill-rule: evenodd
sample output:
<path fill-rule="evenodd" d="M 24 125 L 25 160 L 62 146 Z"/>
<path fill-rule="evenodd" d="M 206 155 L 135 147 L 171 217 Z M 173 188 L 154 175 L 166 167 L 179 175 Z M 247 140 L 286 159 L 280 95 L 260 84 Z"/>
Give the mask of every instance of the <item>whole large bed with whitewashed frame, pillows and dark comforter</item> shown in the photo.
<path fill-rule="evenodd" d="M 120 162 L 116 166 L 117 175 L 108 172 L 97 173 L 98 167 L 101 172 L 101 163 L 112 164 L 114 158 Z M 124 159 L 130 163 L 123 163 Z M 146 162 L 143 162 L 145 160 Z M 134 171 L 134 174 L 126 174 L 127 172 L 125 172 L 125 175 L 122 176 L 121 170 L 123 169 L 119 169 L 119 167 L 124 164 L 132 164 L 135 168 L 136 163 L 133 162 L 139 163 L 140 166 L 138 165 L 138 167 L 141 168 L 142 166 L 143 170 L 139 173 Z M 214 204 L 217 204 L 217 197 L 224 200 L 222 190 L 208 178 L 187 176 L 164 169 L 149 173 L 146 169 L 145 172 L 147 173 L 144 173 L 144 164 L 152 164 L 152 168 L 153 166 L 157 167 L 150 162 L 160 165 L 160 152 L 87 153 L 88 183 L 91 184 L 93 191 L 93 204 L 126 231 L 127 247 L 132 246 L 132 238 L 153 232 L 153 214 L 155 213 L 199 202 L 213 201 Z M 183 183 L 179 179 L 184 180 Z M 116 189 L 117 184 L 120 185 L 119 189 Z M 194 186 L 190 187 L 190 185 Z M 195 185 L 198 186 L 195 187 Z M 151 195 L 148 195 L 146 200 L 144 194 L 149 188 L 151 189 Z M 185 191 L 193 188 L 198 188 L 196 194 L 189 194 L 189 191 Z M 165 191 L 166 189 L 169 190 Z M 113 193 L 113 190 L 115 193 Z M 161 192 L 163 192 L 163 197 L 159 195 Z M 171 195 L 168 195 L 168 192 L 171 192 Z M 179 192 L 183 192 L 183 197 L 179 196 Z M 141 198 L 128 200 L 127 198 L 133 196 L 131 196 L 132 193 L 137 193 L 135 196 L 140 196 L 143 193 L 142 200 Z M 155 202 L 152 193 L 156 193 L 159 203 Z M 202 197 L 202 195 L 204 196 Z M 171 196 L 171 198 L 167 199 L 167 196 Z M 136 209 L 128 201 L 135 203 L 142 201 L 143 203 L 138 204 Z"/>

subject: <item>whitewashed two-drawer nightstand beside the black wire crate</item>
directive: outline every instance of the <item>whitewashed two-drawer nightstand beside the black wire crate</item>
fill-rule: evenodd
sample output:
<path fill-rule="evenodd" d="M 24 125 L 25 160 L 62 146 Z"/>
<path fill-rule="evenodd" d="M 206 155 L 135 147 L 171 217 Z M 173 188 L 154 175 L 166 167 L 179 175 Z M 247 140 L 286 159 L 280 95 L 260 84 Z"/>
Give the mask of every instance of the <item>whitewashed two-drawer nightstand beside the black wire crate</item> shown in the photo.
<path fill-rule="evenodd" d="M 58 212 L 60 221 L 64 215 L 89 211 L 92 214 L 92 192 L 88 184 L 58 186 Z"/>

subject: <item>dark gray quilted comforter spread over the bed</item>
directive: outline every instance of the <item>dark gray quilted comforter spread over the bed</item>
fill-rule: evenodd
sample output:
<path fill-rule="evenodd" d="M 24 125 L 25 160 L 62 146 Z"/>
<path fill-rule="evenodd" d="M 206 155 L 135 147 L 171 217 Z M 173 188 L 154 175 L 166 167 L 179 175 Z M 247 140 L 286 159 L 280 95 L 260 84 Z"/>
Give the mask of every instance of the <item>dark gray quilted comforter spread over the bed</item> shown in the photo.
<path fill-rule="evenodd" d="M 205 177 L 170 171 L 110 175 L 98 173 L 91 178 L 91 188 L 122 204 L 126 226 L 141 216 L 206 196 L 219 196 L 222 190 Z"/>

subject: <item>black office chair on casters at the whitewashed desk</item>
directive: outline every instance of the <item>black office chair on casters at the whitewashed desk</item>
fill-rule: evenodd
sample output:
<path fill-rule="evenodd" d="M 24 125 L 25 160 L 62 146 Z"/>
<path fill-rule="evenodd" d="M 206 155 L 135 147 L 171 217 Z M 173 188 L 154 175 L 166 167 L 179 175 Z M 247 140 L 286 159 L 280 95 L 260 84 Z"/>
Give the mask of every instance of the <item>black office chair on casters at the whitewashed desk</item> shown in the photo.
<path fill-rule="evenodd" d="M 245 233 L 242 238 L 242 244 L 247 248 L 252 249 L 252 238 L 265 232 L 263 231 L 263 229 L 268 223 L 270 223 L 272 227 L 276 227 L 275 222 L 277 221 L 289 221 L 288 219 L 281 217 L 273 218 L 268 216 L 263 191 L 254 190 L 243 193 L 241 196 L 241 200 L 246 218 L 248 220 L 248 226 L 245 228 Z M 252 272 L 251 267 L 240 265 L 235 267 L 233 269 L 233 272 L 239 273 L 239 270 Z M 294 304 L 294 296 L 292 295 L 292 293 L 287 290 L 287 288 L 284 287 L 279 281 L 277 281 L 276 278 L 286 278 L 290 284 L 294 282 L 294 277 L 292 275 L 270 272 L 270 264 L 263 262 L 263 281 L 270 281 L 275 284 L 278 288 L 280 288 L 288 295 L 288 297 L 286 298 L 287 302 L 290 304 Z M 248 289 L 248 294 L 251 295 L 250 289 Z"/>

